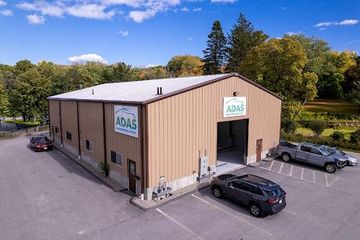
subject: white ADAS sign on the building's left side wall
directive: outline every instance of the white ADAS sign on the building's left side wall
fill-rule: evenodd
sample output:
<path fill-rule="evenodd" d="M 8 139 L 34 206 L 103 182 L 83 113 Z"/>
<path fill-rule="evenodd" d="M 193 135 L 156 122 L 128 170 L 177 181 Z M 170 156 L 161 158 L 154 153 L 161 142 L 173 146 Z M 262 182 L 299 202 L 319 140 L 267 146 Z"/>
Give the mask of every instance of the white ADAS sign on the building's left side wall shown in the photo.
<path fill-rule="evenodd" d="M 115 132 L 138 137 L 139 121 L 137 107 L 115 105 Z"/>

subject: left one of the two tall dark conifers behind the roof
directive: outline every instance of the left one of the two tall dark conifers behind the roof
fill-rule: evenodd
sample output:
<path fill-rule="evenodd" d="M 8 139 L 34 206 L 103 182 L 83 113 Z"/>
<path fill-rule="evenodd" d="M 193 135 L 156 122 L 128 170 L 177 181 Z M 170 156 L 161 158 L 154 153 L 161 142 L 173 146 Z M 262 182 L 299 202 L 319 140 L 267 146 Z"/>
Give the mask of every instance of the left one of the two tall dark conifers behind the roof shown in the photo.
<path fill-rule="evenodd" d="M 217 74 L 223 71 L 226 61 L 226 38 L 220 21 L 215 21 L 208 35 L 207 47 L 203 51 L 204 74 Z"/>

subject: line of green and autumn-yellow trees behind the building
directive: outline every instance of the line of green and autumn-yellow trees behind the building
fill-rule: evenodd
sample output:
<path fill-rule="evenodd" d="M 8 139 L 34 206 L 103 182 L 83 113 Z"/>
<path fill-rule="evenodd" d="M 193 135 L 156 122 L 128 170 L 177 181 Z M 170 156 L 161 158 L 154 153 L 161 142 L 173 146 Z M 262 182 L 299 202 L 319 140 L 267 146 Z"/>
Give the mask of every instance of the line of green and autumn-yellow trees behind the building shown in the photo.
<path fill-rule="evenodd" d="M 360 103 L 360 58 L 305 35 L 269 38 L 240 14 L 225 34 L 214 21 L 203 56 L 174 56 L 166 66 L 119 62 L 59 65 L 21 60 L 0 64 L 0 116 L 47 116 L 46 97 L 103 83 L 237 72 L 283 98 L 283 119 L 295 120 L 315 97 Z"/>

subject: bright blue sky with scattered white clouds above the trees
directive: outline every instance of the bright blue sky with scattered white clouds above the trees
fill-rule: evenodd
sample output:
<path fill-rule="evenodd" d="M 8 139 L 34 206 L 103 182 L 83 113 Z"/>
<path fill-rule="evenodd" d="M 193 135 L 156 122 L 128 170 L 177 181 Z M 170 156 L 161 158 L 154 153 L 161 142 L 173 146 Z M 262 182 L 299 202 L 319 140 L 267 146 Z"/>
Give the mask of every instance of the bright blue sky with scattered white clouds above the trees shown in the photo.
<path fill-rule="evenodd" d="M 0 63 L 165 65 L 202 57 L 212 23 L 243 13 L 271 38 L 304 34 L 360 54 L 360 0 L 0 0 Z"/>

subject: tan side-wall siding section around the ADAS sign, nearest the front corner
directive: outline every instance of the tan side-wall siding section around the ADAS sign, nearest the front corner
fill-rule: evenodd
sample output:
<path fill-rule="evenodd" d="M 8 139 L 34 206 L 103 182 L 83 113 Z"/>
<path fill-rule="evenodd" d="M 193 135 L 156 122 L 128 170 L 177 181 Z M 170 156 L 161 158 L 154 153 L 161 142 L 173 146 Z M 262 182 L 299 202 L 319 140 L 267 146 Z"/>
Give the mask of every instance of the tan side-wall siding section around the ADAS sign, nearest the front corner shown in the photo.
<path fill-rule="evenodd" d="M 136 175 L 141 176 L 141 123 L 139 122 L 139 136 L 137 138 L 116 133 L 114 105 L 116 104 L 105 103 L 107 162 L 109 163 L 111 170 L 118 172 L 122 176 L 128 176 L 127 160 L 133 160 L 136 162 Z M 140 114 L 141 111 L 138 108 L 139 121 L 141 119 Z M 122 167 L 111 162 L 111 151 L 115 151 L 122 155 Z"/>

